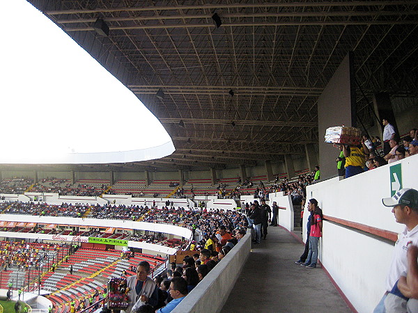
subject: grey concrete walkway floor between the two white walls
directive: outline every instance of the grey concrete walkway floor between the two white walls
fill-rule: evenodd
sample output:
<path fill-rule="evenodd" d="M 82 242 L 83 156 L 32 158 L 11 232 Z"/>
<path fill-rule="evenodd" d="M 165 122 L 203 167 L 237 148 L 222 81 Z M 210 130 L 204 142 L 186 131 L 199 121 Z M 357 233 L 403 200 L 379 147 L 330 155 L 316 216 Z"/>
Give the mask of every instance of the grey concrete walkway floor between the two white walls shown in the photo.
<path fill-rule="evenodd" d="M 268 227 L 267 240 L 252 246 L 221 312 L 350 312 L 320 265 L 295 264 L 303 250 L 288 231 Z"/>

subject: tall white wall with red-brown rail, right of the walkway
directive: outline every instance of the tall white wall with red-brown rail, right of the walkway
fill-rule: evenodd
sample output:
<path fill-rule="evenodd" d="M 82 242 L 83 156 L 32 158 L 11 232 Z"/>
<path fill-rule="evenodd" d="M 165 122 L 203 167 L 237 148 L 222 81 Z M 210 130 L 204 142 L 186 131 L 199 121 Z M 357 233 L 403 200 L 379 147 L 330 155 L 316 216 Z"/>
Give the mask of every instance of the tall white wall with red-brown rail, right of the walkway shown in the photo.
<path fill-rule="evenodd" d="M 418 189 L 418 156 L 402 164 L 403 188 Z M 307 187 L 307 200 L 316 198 L 325 216 L 332 216 L 380 230 L 401 232 L 391 208 L 389 166 L 360 175 L 329 179 Z M 305 211 L 304 225 L 309 214 Z M 306 232 L 306 229 L 304 229 Z M 306 234 L 304 233 L 304 241 Z M 393 244 L 348 227 L 325 221 L 320 240 L 320 261 L 358 312 L 372 312 L 385 292 L 385 279 L 392 260 Z"/>

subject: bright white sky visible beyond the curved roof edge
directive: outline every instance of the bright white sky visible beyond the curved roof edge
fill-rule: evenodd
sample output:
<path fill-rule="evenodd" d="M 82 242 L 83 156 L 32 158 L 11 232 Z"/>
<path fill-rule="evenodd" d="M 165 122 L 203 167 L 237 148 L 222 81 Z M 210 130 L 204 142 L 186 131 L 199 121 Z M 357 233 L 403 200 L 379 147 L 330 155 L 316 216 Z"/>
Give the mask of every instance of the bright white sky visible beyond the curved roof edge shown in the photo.
<path fill-rule="evenodd" d="M 24 0 L 0 1 L 0 11 L 0 163 L 142 161 L 173 152 L 144 104 L 45 15 Z"/>

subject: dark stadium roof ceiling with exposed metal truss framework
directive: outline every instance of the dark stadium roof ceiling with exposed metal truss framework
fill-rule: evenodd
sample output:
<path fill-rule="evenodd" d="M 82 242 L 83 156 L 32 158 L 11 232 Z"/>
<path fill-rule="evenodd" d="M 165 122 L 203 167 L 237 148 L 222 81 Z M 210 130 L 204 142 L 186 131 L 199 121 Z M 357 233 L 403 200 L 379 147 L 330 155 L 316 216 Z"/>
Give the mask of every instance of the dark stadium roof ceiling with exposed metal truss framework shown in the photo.
<path fill-rule="evenodd" d="M 254 166 L 304 155 L 304 144 L 318 143 L 318 96 L 349 51 L 365 123 L 373 93 L 418 94 L 417 1 L 30 2 L 173 138 L 171 156 L 125 169 Z M 98 18 L 109 36 L 93 29 Z"/>

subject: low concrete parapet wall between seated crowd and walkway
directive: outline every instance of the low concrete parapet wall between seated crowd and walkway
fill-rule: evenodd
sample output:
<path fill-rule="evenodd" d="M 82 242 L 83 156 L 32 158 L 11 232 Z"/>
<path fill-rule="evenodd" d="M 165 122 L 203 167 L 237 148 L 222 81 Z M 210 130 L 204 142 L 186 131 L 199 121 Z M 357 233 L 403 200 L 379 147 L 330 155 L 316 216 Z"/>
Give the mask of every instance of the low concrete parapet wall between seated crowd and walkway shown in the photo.
<path fill-rule="evenodd" d="M 250 250 L 251 232 L 248 232 L 171 312 L 219 312 L 247 262 Z"/>

